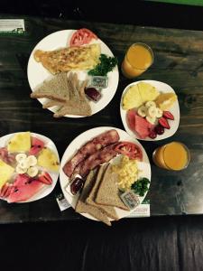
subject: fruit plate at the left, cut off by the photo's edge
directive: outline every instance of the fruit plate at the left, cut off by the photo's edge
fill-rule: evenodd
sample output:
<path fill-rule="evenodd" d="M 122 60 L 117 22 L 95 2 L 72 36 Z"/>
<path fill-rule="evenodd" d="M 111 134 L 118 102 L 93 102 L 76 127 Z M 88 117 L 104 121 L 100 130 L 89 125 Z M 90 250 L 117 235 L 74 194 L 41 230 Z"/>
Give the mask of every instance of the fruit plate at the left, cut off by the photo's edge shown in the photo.
<path fill-rule="evenodd" d="M 19 132 L 0 138 L 0 199 L 37 201 L 54 189 L 60 159 L 50 138 Z"/>

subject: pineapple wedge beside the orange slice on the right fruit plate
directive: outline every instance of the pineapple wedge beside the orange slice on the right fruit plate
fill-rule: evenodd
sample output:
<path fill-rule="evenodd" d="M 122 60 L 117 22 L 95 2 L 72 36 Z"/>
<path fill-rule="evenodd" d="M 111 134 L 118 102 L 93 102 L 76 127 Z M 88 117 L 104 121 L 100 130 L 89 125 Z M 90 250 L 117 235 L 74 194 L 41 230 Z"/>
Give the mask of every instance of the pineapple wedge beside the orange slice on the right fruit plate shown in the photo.
<path fill-rule="evenodd" d="M 142 103 L 152 101 L 160 95 L 160 92 L 151 84 L 140 82 L 137 84 Z"/>

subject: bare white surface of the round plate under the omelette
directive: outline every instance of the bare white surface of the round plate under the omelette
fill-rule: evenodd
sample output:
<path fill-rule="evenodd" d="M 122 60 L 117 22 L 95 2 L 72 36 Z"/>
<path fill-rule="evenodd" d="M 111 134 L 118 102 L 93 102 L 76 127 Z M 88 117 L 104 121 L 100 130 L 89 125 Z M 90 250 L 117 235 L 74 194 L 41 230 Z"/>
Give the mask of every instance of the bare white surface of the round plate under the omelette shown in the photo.
<path fill-rule="evenodd" d="M 51 33 L 50 35 L 42 39 L 42 41 L 39 42 L 34 47 L 30 59 L 28 61 L 27 67 L 28 81 L 32 91 L 33 89 L 35 89 L 37 85 L 41 84 L 44 79 L 48 79 L 51 76 L 51 73 L 42 66 L 42 63 L 39 63 L 34 60 L 33 52 L 38 49 L 43 51 L 51 51 L 69 46 L 70 37 L 74 32 L 75 30 L 61 30 L 55 33 Z M 102 53 L 105 53 L 109 56 L 113 56 L 112 51 L 110 51 L 110 49 L 106 46 L 104 42 L 102 42 L 101 40 L 97 40 L 94 41 L 94 43 L 99 43 L 101 45 Z M 87 76 L 86 71 L 80 71 L 77 73 L 79 79 L 85 79 L 85 77 Z M 115 96 L 115 91 L 117 89 L 119 77 L 117 66 L 115 67 L 114 70 L 108 72 L 107 77 L 108 77 L 108 86 L 106 89 L 102 89 L 102 98 L 100 98 L 100 100 L 97 101 L 97 103 L 89 101 L 90 107 L 92 109 L 92 115 L 96 114 L 98 111 L 106 107 L 107 104 L 111 101 L 111 99 Z M 39 98 L 39 101 L 43 105 L 47 101 L 47 98 Z M 49 108 L 49 110 L 55 113 L 56 108 L 57 107 L 51 107 Z M 84 117 L 84 116 L 67 115 L 66 117 Z"/>

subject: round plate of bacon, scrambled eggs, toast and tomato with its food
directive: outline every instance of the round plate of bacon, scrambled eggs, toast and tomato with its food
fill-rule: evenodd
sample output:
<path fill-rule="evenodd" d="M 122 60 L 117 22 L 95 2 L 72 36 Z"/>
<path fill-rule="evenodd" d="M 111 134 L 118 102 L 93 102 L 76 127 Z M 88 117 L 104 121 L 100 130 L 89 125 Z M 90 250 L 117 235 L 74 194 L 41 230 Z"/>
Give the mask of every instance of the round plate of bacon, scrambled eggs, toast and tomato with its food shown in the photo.
<path fill-rule="evenodd" d="M 60 186 L 69 204 L 108 226 L 142 203 L 150 182 L 151 165 L 143 146 L 115 127 L 78 135 L 60 163 Z"/>

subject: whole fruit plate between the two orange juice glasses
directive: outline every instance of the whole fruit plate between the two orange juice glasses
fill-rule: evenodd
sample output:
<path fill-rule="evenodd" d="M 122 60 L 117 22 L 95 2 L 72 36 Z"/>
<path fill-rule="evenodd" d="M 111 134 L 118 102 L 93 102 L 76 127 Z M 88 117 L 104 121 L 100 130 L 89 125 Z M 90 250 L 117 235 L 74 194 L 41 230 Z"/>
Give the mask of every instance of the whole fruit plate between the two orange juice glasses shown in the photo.
<path fill-rule="evenodd" d="M 155 80 L 128 85 L 120 114 L 125 131 L 137 139 L 154 141 L 173 135 L 180 123 L 180 107 L 171 86 Z"/>

